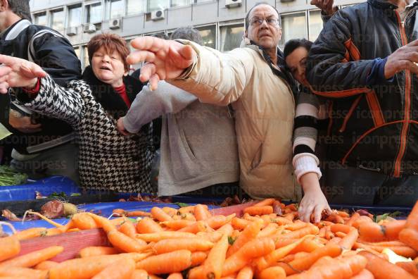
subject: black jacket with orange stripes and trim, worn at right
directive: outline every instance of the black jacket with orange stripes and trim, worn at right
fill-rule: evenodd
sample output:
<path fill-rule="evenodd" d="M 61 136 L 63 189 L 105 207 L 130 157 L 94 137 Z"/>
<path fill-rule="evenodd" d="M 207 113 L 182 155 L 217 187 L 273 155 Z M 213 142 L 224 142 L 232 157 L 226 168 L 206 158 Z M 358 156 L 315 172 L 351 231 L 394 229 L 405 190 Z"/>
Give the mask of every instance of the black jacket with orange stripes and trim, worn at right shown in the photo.
<path fill-rule="evenodd" d="M 410 70 L 370 78 L 377 58 L 417 39 L 417 2 L 403 20 L 396 8 L 368 0 L 338 11 L 310 49 L 306 75 L 312 92 L 331 99 L 328 159 L 400 177 L 418 174 L 418 78 Z"/>

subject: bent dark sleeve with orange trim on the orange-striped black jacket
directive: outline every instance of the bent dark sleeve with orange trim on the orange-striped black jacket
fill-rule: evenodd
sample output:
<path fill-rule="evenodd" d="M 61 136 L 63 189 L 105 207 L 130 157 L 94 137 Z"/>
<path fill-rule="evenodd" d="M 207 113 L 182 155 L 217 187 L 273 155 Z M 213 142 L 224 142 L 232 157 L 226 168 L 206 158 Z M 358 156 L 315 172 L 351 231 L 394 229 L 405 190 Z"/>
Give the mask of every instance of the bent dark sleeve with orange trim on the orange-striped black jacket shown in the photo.
<path fill-rule="evenodd" d="M 306 77 L 315 94 L 339 98 L 369 90 L 367 77 L 374 60 L 361 60 L 352 38 L 352 23 L 343 13 L 346 10 L 331 17 L 310 49 Z"/>

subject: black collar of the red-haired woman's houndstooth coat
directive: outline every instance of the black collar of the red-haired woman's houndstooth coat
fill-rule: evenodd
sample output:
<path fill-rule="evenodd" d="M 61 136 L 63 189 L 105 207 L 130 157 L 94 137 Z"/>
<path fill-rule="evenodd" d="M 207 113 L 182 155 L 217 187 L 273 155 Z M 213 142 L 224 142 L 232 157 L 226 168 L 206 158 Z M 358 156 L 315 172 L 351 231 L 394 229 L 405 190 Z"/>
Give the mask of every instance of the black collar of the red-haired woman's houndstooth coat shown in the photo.
<path fill-rule="evenodd" d="M 103 109 L 110 113 L 113 118 L 118 119 L 121 116 L 125 116 L 128 110 L 125 101 L 123 101 L 118 92 L 115 92 L 115 89 L 113 89 L 111 85 L 101 82 L 101 80 L 94 75 L 91 66 L 87 66 L 84 69 L 82 80 L 87 82 L 90 86 L 91 94 L 93 94 L 94 99 L 96 99 L 96 101 L 103 106 Z M 132 103 L 137 94 L 141 91 L 143 85 L 139 80 L 136 80 L 129 75 L 123 77 L 123 83 L 125 84 L 129 101 Z"/>

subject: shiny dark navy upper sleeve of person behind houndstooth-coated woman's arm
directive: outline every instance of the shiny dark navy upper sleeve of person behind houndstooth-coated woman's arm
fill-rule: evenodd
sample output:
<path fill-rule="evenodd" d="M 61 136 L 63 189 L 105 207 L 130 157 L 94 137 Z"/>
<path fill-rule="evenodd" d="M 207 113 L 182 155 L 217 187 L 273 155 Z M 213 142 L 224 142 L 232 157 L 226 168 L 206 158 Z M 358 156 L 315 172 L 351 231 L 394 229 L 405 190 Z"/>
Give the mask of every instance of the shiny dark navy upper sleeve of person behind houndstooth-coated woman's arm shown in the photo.
<path fill-rule="evenodd" d="M 70 80 L 80 80 L 80 60 L 65 37 L 47 32 L 34 39 L 34 50 L 34 63 L 44 68 L 58 85 L 66 86 Z"/>

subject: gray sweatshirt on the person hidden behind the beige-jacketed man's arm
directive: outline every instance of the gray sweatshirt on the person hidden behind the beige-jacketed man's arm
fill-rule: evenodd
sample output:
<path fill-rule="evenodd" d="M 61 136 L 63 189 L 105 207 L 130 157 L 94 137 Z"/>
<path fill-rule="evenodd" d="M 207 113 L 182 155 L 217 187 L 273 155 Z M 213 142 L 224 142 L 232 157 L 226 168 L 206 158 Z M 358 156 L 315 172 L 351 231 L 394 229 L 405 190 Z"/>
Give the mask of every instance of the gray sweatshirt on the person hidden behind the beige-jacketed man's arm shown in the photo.
<path fill-rule="evenodd" d="M 239 180 L 234 118 L 228 106 L 202 104 L 167 82 L 137 94 L 123 119 L 128 132 L 163 116 L 158 195 L 168 196 Z"/>

